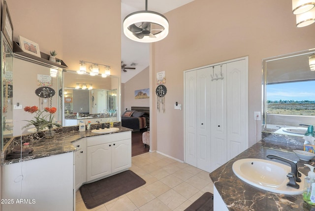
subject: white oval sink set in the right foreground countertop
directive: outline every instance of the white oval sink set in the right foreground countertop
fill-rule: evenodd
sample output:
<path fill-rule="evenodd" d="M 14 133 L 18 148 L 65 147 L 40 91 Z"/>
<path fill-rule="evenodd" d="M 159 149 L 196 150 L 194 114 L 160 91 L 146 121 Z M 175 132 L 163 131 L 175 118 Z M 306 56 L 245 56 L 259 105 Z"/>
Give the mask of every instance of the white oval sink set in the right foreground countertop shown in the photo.
<path fill-rule="evenodd" d="M 286 186 L 289 181 L 286 176 L 291 172 L 291 167 L 278 162 L 245 158 L 235 161 L 232 170 L 236 176 L 244 182 L 251 184 L 257 188 L 281 194 L 298 195 L 303 193 L 304 177 L 302 174 L 299 189 Z"/>

